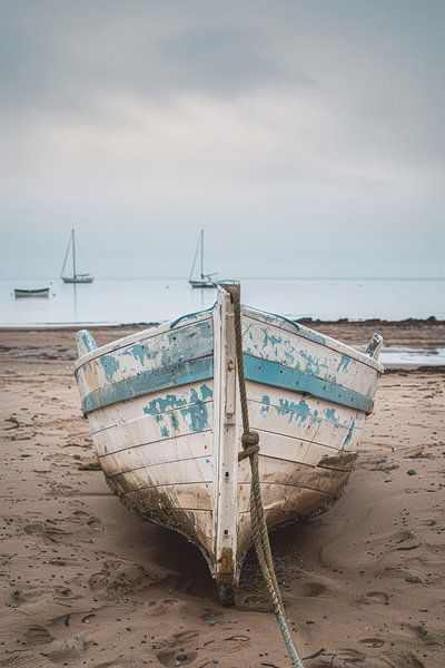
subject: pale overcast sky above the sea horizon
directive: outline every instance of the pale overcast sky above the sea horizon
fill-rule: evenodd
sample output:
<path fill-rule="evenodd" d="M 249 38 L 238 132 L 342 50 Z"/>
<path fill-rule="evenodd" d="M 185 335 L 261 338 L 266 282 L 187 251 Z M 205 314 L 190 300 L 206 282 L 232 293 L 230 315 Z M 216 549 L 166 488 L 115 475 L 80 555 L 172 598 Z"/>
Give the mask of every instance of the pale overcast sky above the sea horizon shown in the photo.
<path fill-rule="evenodd" d="M 0 274 L 444 276 L 443 0 L 0 0 Z"/>

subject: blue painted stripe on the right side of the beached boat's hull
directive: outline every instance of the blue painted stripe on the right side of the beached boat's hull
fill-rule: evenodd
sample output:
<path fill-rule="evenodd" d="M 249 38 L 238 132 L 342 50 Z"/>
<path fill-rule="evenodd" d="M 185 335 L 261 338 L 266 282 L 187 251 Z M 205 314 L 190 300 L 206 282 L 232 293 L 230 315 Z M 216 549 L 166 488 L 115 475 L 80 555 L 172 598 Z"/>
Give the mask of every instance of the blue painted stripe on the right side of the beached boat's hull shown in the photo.
<path fill-rule="evenodd" d="M 294 392 L 307 392 L 307 394 L 317 399 L 364 411 L 365 413 L 373 411 L 374 402 L 370 396 L 354 392 L 354 390 L 347 390 L 332 381 L 324 381 L 315 375 L 284 366 L 279 362 L 261 360 L 254 357 L 254 355 L 244 355 L 244 371 L 248 381 Z"/>

